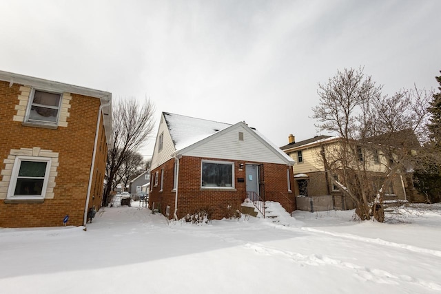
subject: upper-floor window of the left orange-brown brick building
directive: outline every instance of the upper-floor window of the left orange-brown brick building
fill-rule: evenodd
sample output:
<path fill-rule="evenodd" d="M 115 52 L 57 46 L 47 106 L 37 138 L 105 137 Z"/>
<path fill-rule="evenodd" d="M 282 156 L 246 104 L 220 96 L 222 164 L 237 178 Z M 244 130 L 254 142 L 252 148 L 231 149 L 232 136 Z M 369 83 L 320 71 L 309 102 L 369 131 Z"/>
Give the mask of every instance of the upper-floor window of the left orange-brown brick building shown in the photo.
<path fill-rule="evenodd" d="M 33 89 L 28 103 L 26 121 L 28 123 L 42 123 L 57 125 L 61 94 Z"/>

